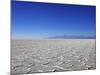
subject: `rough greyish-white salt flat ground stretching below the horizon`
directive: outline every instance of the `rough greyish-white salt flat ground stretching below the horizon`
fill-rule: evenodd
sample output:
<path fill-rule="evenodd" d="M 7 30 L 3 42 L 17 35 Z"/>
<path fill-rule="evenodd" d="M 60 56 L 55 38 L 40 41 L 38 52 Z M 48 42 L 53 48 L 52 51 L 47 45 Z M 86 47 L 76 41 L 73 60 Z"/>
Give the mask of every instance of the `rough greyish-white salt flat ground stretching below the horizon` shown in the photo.
<path fill-rule="evenodd" d="M 11 74 L 95 69 L 95 39 L 12 40 Z"/>

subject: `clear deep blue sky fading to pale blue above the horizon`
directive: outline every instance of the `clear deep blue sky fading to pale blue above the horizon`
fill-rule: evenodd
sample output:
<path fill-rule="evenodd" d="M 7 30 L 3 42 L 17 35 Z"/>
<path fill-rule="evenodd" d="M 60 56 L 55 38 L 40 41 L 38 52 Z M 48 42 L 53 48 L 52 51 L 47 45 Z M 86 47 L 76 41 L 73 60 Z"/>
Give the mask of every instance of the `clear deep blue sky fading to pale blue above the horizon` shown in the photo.
<path fill-rule="evenodd" d="M 96 35 L 95 6 L 12 1 L 12 38 Z"/>

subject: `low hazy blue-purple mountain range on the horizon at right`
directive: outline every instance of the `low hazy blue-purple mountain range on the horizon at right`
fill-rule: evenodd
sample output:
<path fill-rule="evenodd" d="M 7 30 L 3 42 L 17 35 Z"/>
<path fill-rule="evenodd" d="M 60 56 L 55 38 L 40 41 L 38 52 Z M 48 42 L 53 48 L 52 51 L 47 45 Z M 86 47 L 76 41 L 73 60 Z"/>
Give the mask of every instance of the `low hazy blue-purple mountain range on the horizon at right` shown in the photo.
<path fill-rule="evenodd" d="M 48 39 L 96 39 L 94 36 L 73 36 L 73 35 L 60 35 L 48 37 Z"/>

